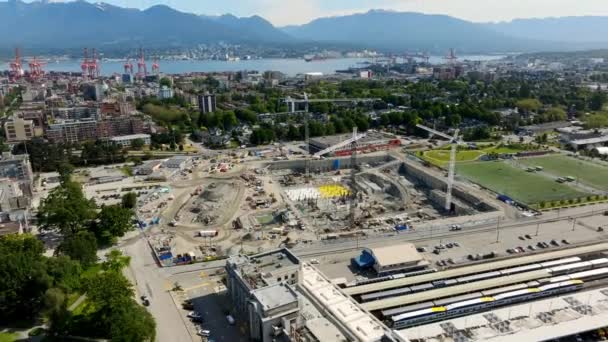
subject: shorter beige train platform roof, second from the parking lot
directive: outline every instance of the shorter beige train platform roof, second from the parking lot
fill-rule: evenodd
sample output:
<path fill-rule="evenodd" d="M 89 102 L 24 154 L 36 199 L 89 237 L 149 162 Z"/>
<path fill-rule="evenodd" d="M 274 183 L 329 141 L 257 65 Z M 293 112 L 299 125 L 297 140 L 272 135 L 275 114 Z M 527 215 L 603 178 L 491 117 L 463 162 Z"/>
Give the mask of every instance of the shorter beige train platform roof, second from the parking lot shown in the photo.
<path fill-rule="evenodd" d="M 449 286 L 436 290 L 423 291 L 411 295 L 376 300 L 369 303 L 363 303 L 361 304 L 361 306 L 369 311 L 381 310 L 401 305 L 414 304 L 428 300 L 440 299 L 444 297 L 480 291 L 484 289 L 491 289 L 504 285 L 522 283 L 530 280 L 546 278 L 548 276 L 550 276 L 550 273 L 547 270 L 538 270 L 520 274 L 513 274 L 507 277 L 493 278 L 478 281 L 475 283 Z"/>

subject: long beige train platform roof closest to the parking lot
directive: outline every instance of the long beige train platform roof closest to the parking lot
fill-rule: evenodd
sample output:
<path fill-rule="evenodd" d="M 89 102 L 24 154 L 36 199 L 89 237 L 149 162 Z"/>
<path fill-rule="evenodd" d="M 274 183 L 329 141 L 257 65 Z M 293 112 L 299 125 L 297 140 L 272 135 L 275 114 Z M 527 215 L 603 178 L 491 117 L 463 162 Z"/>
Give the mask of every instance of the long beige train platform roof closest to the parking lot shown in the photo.
<path fill-rule="evenodd" d="M 604 250 L 608 250 L 608 243 L 600 243 L 600 244 L 584 246 L 584 247 L 563 249 L 563 250 L 554 251 L 554 252 L 534 254 L 534 255 L 518 257 L 518 258 L 510 258 L 510 259 L 505 259 L 505 260 L 500 260 L 500 261 L 495 261 L 495 262 L 488 262 L 488 263 L 472 265 L 472 266 L 467 266 L 467 267 L 459 267 L 459 268 L 455 268 L 455 269 L 451 269 L 451 270 L 447 270 L 447 271 L 423 274 L 423 275 L 414 276 L 414 277 L 393 279 L 393 280 L 383 281 L 383 282 L 379 282 L 379 283 L 354 286 L 354 287 L 349 287 L 349 288 L 344 289 L 343 292 L 352 296 L 352 295 L 357 295 L 357 294 L 362 294 L 362 293 L 369 293 L 369 292 L 393 289 L 393 288 L 397 288 L 397 287 L 410 286 L 410 285 L 419 284 L 419 283 L 428 283 L 428 282 L 432 282 L 432 281 L 439 280 L 439 279 L 449 279 L 449 278 L 455 278 L 455 277 L 462 277 L 462 276 L 469 275 L 469 274 L 495 271 L 495 270 L 500 270 L 500 269 L 509 268 L 509 267 L 516 267 L 516 266 L 521 266 L 521 265 L 526 265 L 526 264 L 532 264 L 535 262 L 542 262 L 542 261 L 546 261 L 546 260 L 560 259 L 560 258 L 571 257 L 571 256 L 580 255 L 580 254 L 600 252 L 600 251 L 604 251 Z"/>

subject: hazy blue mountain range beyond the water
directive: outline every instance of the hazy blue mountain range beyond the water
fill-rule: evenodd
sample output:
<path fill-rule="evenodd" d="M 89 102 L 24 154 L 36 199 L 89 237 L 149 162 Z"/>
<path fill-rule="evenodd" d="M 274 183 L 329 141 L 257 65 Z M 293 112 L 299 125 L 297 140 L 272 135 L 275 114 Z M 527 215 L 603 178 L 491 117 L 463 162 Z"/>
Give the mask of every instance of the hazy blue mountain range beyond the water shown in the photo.
<path fill-rule="evenodd" d="M 608 47 L 608 17 L 521 19 L 473 23 L 446 15 L 372 10 L 274 27 L 259 16 L 146 10 L 83 0 L 0 2 L 0 48 L 170 48 L 203 43 L 348 46 L 385 51 L 460 53 L 566 51 Z"/>

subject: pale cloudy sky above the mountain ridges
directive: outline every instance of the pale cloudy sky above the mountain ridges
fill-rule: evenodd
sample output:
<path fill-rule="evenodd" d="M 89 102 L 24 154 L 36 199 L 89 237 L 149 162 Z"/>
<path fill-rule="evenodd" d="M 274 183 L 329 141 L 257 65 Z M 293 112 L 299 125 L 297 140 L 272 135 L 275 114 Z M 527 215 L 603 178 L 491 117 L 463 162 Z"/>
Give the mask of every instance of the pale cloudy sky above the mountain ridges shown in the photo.
<path fill-rule="evenodd" d="M 51 0 L 53 1 L 53 0 Z M 65 0 L 55 0 L 56 2 Z M 260 15 L 275 26 L 370 9 L 447 14 L 474 22 L 578 15 L 608 16 L 608 0 L 104 0 L 121 7 L 164 4 L 206 15 Z"/>

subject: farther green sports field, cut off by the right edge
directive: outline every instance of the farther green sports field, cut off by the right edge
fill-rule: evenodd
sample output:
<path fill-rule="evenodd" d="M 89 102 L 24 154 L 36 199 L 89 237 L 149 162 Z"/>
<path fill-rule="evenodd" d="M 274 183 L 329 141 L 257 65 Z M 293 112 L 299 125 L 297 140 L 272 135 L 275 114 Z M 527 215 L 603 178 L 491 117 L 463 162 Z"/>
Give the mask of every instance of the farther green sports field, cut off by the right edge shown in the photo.
<path fill-rule="evenodd" d="M 521 159 L 527 166 L 542 166 L 546 172 L 559 177 L 572 176 L 600 190 L 608 190 L 608 167 L 564 155 L 548 155 Z"/>

